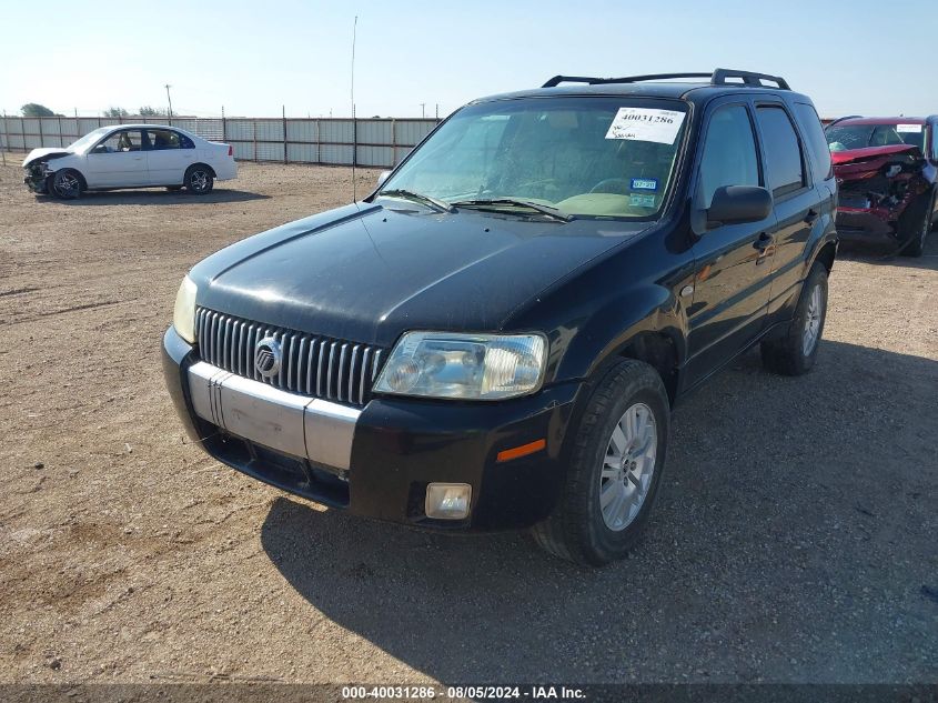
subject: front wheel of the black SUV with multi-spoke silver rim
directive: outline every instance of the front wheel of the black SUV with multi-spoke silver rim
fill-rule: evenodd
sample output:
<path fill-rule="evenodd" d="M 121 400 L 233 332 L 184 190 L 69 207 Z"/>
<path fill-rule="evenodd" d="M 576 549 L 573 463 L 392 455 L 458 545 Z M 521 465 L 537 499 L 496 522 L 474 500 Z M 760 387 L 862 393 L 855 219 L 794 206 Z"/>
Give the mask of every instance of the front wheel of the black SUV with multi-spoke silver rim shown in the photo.
<path fill-rule="evenodd" d="M 624 359 L 607 368 L 574 430 L 557 505 L 532 528 L 535 541 L 551 554 L 579 564 L 601 566 L 625 558 L 655 503 L 669 422 L 667 393 L 652 366 Z M 625 433 L 616 440 L 614 431 L 623 426 Z M 636 426 L 644 426 L 645 432 L 635 432 Z M 638 446 L 631 453 L 619 451 L 627 449 L 629 439 Z M 622 461 L 612 459 L 617 452 L 636 461 L 623 466 Z M 605 496 L 613 498 L 605 503 Z M 619 501 L 624 501 L 622 510 L 615 511 Z"/>

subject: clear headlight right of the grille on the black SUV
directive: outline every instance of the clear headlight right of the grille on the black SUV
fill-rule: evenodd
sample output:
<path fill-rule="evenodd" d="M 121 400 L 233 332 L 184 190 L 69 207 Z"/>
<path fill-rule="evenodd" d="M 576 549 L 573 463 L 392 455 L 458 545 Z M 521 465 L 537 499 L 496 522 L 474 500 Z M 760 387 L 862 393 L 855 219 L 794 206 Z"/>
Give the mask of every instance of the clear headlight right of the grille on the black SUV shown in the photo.
<path fill-rule="evenodd" d="M 500 400 L 536 391 L 547 340 L 541 334 L 409 332 L 374 386 L 379 393 Z"/>

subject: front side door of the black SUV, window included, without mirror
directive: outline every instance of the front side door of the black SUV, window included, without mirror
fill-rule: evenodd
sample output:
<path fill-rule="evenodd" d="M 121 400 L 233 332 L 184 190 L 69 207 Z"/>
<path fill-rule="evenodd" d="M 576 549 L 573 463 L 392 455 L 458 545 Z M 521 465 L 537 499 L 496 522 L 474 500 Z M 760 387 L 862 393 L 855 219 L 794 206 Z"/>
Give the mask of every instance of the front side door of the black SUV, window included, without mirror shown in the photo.
<path fill-rule="evenodd" d="M 694 210 L 710 207 L 722 185 L 764 185 L 754 116 L 747 98 L 712 103 L 703 128 Z M 769 300 L 774 215 L 699 233 L 688 308 L 687 380 L 693 385 L 736 355 L 765 324 Z"/>

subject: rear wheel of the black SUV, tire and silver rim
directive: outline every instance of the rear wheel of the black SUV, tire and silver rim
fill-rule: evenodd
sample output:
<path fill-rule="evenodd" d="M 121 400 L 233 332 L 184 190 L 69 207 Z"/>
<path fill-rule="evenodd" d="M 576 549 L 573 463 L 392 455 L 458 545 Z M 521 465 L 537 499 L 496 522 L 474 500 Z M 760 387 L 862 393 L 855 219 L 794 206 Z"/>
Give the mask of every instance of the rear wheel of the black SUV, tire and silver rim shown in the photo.
<path fill-rule="evenodd" d="M 795 317 L 779 334 L 759 345 L 763 365 L 781 375 L 801 375 L 817 359 L 824 322 L 827 319 L 827 269 L 815 262 L 801 288 Z"/>

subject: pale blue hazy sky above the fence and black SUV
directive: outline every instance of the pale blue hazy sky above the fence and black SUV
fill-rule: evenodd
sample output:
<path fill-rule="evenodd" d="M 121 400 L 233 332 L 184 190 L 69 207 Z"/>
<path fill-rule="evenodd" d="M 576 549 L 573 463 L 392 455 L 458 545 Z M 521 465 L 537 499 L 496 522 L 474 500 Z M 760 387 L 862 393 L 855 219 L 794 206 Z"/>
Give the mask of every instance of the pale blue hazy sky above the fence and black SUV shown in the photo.
<path fill-rule="evenodd" d="M 935 0 L 10 2 L 0 109 L 441 117 L 556 73 L 776 73 L 824 117 L 938 112 Z"/>

